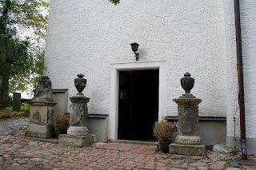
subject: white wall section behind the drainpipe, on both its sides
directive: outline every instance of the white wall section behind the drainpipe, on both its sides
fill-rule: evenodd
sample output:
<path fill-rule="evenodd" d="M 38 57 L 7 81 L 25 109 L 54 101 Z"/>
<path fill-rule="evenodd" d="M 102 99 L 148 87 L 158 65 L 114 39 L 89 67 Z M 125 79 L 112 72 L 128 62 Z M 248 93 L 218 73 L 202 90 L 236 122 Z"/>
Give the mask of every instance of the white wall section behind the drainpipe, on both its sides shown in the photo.
<path fill-rule="evenodd" d="M 238 105 L 238 73 L 237 57 L 235 44 L 235 23 L 234 23 L 234 2 L 232 0 L 225 2 L 225 25 L 226 25 L 226 104 L 227 104 L 227 145 L 234 145 L 234 121 L 236 117 L 236 136 L 238 136 L 237 145 L 240 137 L 239 105 Z M 246 140 L 247 151 L 256 154 L 256 20 L 255 16 L 256 2 L 254 0 L 240 1 L 241 14 L 241 34 L 242 34 L 242 57 L 243 74 L 245 90 L 245 111 L 246 111 Z M 238 146 L 238 149 L 240 146 Z"/>

